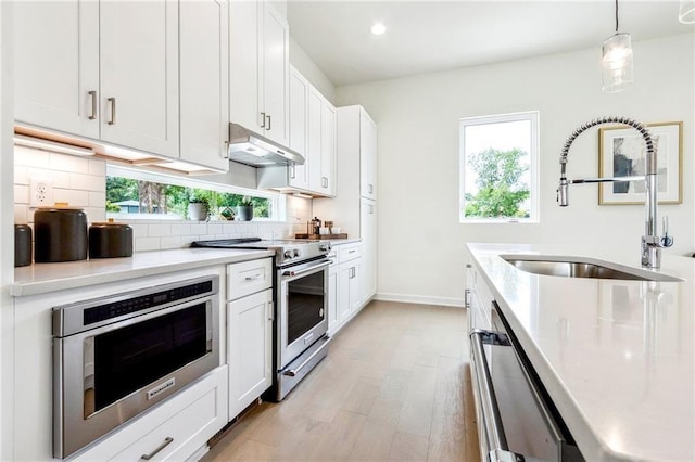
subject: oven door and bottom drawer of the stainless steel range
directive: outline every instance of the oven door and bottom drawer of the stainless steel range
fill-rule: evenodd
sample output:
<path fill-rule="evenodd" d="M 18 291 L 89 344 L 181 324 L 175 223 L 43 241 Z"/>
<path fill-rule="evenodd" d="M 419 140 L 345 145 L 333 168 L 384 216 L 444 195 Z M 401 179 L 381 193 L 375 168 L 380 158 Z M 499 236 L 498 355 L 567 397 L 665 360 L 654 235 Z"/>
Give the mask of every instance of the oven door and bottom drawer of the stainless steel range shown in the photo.
<path fill-rule="evenodd" d="M 281 400 L 328 351 L 328 266 L 325 256 L 277 270 L 277 393 Z"/>

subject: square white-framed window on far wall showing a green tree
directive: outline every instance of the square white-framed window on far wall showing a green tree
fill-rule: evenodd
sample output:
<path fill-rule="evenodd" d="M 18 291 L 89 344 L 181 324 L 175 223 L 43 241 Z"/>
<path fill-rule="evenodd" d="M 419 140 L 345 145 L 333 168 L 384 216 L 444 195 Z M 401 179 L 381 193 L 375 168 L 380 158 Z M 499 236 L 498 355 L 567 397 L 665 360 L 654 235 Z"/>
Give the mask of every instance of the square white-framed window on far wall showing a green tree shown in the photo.
<path fill-rule="evenodd" d="M 462 222 L 538 222 L 539 113 L 460 120 Z"/>

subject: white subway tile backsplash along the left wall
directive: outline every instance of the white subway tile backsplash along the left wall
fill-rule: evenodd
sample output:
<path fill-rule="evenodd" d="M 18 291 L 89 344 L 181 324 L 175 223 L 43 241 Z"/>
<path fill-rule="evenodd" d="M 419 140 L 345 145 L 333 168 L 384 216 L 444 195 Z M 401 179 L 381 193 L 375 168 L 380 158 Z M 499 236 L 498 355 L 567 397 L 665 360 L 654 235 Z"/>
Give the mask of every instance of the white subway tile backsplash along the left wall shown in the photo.
<path fill-rule="evenodd" d="M 30 147 L 15 146 L 14 220 L 33 223 L 34 209 L 29 207 L 31 178 L 53 181 L 56 202 L 81 207 L 88 221 L 106 220 L 105 213 L 106 163 L 101 159 L 78 157 Z M 190 221 L 190 220 L 127 220 L 132 227 L 135 252 L 187 247 L 193 241 L 210 239 L 263 238 L 287 239 L 306 232 L 312 219 L 312 201 L 287 196 L 287 221 Z"/>

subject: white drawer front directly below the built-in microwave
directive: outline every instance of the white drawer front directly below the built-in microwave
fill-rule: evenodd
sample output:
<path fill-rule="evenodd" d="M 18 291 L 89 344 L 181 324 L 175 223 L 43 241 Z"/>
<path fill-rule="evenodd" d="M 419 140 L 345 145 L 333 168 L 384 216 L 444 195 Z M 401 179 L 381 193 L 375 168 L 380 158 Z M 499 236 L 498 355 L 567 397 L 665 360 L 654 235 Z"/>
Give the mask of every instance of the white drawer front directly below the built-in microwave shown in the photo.
<path fill-rule="evenodd" d="M 227 421 L 227 365 L 220 365 L 72 460 L 186 460 Z"/>

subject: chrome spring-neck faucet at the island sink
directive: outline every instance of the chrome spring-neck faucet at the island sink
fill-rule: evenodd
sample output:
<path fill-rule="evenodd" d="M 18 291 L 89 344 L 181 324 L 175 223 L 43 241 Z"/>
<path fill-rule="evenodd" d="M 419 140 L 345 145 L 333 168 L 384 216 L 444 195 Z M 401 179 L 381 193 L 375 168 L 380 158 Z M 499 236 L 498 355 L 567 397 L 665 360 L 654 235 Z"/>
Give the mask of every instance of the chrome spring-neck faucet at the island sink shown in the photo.
<path fill-rule="evenodd" d="M 572 145 L 577 137 L 587 129 L 603 124 L 624 124 L 628 125 L 642 134 L 644 143 L 647 147 L 647 154 L 645 158 L 645 175 L 633 177 L 612 177 L 612 178 L 587 178 L 581 180 L 568 180 L 566 177 L 567 170 L 567 154 L 569 147 Z M 659 268 L 661 266 L 661 248 L 670 247 L 673 245 L 673 238 L 669 235 L 668 231 L 668 218 L 664 217 L 664 235 L 659 236 L 656 232 L 657 220 L 657 164 L 656 164 L 656 150 L 654 147 L 654 140 L 649 134 L 649 131 L 644 125 L 639 121 L 632 120 L 627 117 L 602 117 L 591 120 L 569 136 L 563 151 L 560 153 L 560 184 L 557 188 L 557 202 L 560 207 L 569 205 L 568 187 L 570 184 L 580 183 L 604 183 L 604 182 L 619 182 L 619 181 L 644 181 L 645 185 L 645 224 L 644 235 L 642 236 L 641 247 L 641 260 L 642 266 L 646 268 Z"/>

